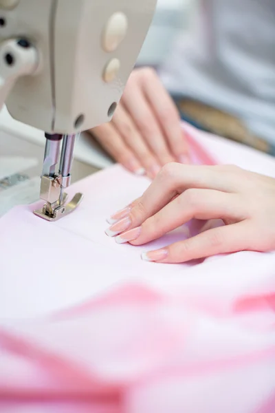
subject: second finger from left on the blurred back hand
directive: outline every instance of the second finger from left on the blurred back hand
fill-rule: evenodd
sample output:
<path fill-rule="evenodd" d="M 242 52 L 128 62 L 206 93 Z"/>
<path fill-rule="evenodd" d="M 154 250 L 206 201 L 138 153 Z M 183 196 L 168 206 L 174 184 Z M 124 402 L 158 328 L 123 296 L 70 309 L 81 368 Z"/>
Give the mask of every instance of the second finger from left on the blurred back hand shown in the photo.
<path fill-rule="evenodd" d="M 131 116 L 126 112 L 123 105 L 118 105 L 112 122 L 120 136 L 122 136 L 126 146 L 135 153 L 135 156 L 140 161 L 140 165 L 144 167 L 151 178 L 155 178 L 155 173 L 152 174 L 152 171 L 159 171 L 159 162 L 146 145 L 144 138 L 137 131 Z"/>

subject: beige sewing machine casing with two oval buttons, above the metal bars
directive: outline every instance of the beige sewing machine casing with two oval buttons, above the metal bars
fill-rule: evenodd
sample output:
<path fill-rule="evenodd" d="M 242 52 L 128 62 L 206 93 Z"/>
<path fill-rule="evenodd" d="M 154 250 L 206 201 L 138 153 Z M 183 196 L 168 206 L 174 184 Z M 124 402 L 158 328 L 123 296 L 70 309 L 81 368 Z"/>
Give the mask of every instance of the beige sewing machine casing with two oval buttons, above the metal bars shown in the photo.
<path fill-rule="evenodd" d="M 6 100 L 12 117 L 58 134 L 109 121 L 109 108 L 120 100 L 144 42 L 155 0 L 12 3 L 7 9 L 0 1 L 1 41 L 28 39 L 37 52 L 34 72 L 14 76 Z"/>

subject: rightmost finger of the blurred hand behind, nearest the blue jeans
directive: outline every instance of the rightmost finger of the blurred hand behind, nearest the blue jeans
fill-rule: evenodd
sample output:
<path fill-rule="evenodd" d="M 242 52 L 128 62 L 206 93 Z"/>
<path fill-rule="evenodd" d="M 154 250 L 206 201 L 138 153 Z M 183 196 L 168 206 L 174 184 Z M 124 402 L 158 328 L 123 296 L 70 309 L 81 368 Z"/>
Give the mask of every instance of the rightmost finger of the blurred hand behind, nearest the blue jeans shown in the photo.
<path fill-rule="evenodd" d="M 154 72 L 151 72 L 151 75 L 149 72 L 144 78 L 142 89 L 148 103 L 153 107 L 176 160 L 181 163 L 189 162 L 188 144 L 184 140 L 177 107 Z M 155 98 L 156 90 L 157 99 Z"/>

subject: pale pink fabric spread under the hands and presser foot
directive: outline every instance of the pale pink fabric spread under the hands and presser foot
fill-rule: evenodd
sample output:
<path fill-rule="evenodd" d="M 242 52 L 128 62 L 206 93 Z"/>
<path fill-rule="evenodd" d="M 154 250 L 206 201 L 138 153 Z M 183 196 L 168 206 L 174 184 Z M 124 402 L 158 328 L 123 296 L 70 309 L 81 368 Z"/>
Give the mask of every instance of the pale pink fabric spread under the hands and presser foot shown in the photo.
<path fill-rule="evenodd" d="M 184 128 L 195 162 L 275 176 L 273 158 Z M 147 186 L 113 167 L 70 189 L 85 200 L 60 222 L 0 220 L 1 413 L 275 412 L 275 253 L 142 262 L 206 225 L 115 244 L 105 218 Z"/>

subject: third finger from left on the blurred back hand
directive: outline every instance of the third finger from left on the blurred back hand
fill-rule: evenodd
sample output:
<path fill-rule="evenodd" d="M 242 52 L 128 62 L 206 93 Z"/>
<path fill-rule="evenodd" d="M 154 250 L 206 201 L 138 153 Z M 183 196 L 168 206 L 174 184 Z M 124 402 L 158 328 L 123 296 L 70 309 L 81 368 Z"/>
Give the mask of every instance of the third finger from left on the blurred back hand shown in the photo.
<path fill-rule="evenodd" d="M 157 95 L 155 98 L 157 98 Z M 175 160 L 175 157 L 170 153 L 166 138 L 162 133 L 162 129 L 159 127 L 151 105 L 148 104 L 148 101 L 144 97 L 144 92 L 142 92 L 138 83 L 133 82 L 131 87 L 125 90 L 123 105 L 133 118 L 137 129 L 146 140 L 148 147 L 150 147 L 157 156 L 159 165 L 162 166 Z"/>

